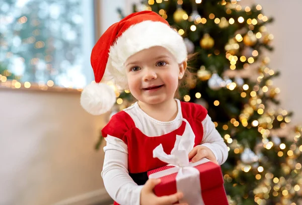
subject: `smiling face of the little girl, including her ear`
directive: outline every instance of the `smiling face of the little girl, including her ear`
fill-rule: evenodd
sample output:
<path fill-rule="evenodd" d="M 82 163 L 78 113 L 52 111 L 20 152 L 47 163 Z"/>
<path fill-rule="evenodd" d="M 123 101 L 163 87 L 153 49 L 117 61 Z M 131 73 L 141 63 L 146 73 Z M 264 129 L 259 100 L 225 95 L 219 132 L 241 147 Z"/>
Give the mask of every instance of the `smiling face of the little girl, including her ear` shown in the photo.
<path fill-rule="evenodd" d="M 125 67 L 131 94 L 138 101 L 154 105 L 174 98 L 187 62 L 178 64 L 166 48 L 155 46 L 130 56 Z"/>

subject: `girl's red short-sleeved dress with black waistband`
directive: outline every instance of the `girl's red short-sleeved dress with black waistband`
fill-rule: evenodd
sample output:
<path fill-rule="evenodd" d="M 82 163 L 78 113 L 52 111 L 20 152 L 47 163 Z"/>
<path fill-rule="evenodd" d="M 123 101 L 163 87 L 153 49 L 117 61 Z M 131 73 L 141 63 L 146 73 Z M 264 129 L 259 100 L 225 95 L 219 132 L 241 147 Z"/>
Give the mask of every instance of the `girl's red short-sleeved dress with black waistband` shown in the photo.
<path fill-rule="evenodd" d="M 201 122 L 207 115 L 207 110 L 200 105 L 191 102 L 181 102 L 182 116 L 186 119 L 194 134 L 195 144 L 201 144 L 203 137 L 203 127 Z M 183 121 L 181 126 L 165 135 L 148 137 L 144 135 L 135 124 L 132 118 L 124 111 L 121 111 L 110 119 L 109 123 L 103 128 L 102 135 L 117 137 L 128 146 L 128 171 L 130 177 L 138 185 L 143 185 L 147 177 L 147 171 L 167 165 L 158 158 L 153 158 L 153 150 L 162 144 L 164 151 L 170 154 L 176 140 L 176 135 L 182 135 L 185 131 L 186 123 Z M 118 203 L 114 202 L 114 205 Z"/>

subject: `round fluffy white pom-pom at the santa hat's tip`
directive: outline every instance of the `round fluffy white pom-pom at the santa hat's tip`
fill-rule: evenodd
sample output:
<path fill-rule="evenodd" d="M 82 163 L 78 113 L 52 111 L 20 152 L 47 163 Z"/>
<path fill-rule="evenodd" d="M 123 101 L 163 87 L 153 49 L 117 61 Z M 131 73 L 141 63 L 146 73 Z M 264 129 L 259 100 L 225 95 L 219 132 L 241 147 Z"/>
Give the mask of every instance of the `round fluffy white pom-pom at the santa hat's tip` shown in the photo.
<path fill-rule="evenodd" d="M 105 83 L 87 85 L 81 94 L 81 106 L 92 115 L 104 114 L 115 104 L 114 89 Z"/>

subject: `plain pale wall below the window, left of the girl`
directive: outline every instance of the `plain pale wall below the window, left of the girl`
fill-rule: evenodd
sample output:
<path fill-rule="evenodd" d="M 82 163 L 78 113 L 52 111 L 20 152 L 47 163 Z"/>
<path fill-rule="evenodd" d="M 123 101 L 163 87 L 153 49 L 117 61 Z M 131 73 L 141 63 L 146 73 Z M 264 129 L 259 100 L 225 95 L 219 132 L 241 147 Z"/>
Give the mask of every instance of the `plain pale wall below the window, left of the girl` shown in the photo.
<path fill-rule="evenodd" d="M 0 99 L 1 205 L 108 199 L 94 150 L 106 118 L 86 113 L 80 93 L 0 89 Z"/>

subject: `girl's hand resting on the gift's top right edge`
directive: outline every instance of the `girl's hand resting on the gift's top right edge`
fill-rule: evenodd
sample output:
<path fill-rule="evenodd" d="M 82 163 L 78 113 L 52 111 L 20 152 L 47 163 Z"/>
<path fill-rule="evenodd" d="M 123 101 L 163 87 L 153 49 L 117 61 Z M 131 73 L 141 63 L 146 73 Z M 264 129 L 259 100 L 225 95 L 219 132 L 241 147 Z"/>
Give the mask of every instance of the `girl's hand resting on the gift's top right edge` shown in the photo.
<path fill-rule="evenodd" d="M 189 159 L 192 159 L 192 162 L 197 162 L 202 158 L 207 158 L 210 161 L 218 164 L 214 153 L 205 146 L 196 146 L 189 153 Z"/>

